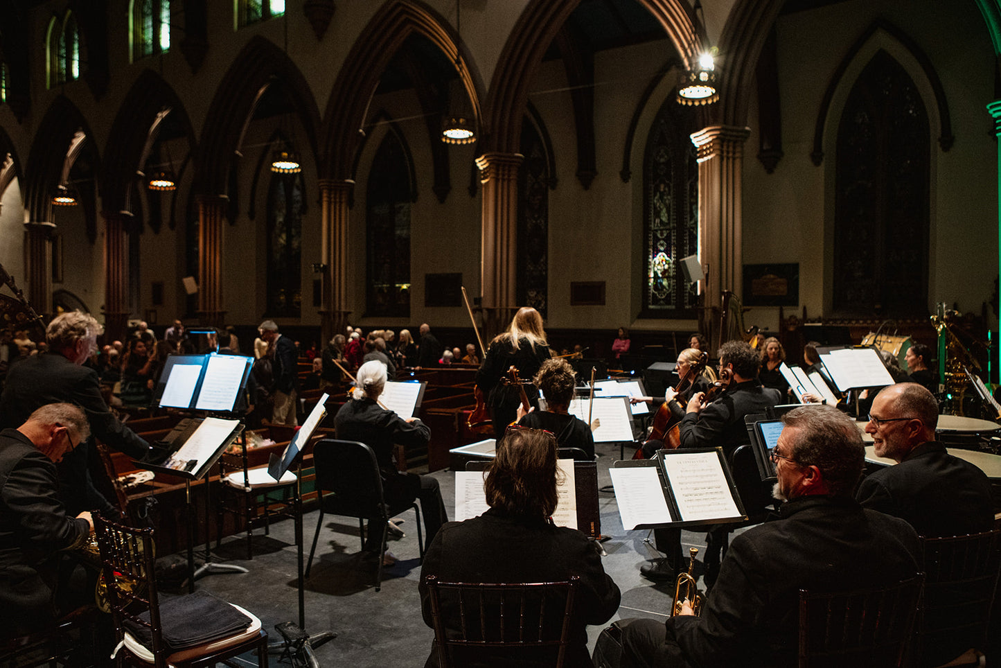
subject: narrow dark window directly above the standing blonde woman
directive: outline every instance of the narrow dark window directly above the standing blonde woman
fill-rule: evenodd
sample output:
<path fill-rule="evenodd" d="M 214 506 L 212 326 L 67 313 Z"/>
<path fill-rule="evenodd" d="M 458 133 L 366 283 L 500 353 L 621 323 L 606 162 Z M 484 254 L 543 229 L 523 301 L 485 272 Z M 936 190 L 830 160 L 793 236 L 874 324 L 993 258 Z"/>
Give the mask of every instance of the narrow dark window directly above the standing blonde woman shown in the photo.
<path fill-rule="evenodd" d="M 547 316 L 549 304 L 549 163 L 536 126 L 522 123 L 518 172 L 518 302 Z"/>

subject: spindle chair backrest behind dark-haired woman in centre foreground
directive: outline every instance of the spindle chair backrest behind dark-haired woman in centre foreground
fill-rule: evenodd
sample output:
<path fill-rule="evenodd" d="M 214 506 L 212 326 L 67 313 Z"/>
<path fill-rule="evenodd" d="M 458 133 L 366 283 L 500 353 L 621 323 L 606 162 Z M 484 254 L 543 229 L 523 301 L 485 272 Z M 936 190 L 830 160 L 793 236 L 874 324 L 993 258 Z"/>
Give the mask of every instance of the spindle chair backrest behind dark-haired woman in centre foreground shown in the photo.
<path fill-rule="evenodd" d="M 438 664 L 466 665 L 489 656 L 535 660 L 549 651 L 544 665 L 559 668 L 570 642 L 579 581 L 573 576 L 566 582 L 484 584 L 427 576 Z"/>

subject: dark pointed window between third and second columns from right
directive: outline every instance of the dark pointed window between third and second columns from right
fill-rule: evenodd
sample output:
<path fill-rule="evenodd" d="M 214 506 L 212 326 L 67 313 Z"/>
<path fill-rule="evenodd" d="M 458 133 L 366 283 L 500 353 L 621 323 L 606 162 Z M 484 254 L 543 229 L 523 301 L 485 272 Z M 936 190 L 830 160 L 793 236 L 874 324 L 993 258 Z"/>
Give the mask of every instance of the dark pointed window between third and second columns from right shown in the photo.
<path fill-rule="evenodd" d="M 365 203 L 366 315 L 410 314 L 410 201 L 406 147 L 386 133 L 368 178 Z"/>

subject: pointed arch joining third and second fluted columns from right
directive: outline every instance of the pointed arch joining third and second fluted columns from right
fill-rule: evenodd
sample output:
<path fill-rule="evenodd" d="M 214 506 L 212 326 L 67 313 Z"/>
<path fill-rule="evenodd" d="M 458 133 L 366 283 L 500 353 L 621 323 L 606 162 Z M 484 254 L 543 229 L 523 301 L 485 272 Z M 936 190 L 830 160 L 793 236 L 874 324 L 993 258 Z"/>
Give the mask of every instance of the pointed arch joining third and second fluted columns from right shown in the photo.
<path fill-rule="evenodd" d="M 464 45 L 457 43 L 451 26 L 442 16 L 418 0 L 392 0 L 375 13 L 344 61 L 333 85 L 323 121 L 325 177 L 350 178 L 354 153 L 361 139 L 359 129 L 382 71 L 408 36 L 427 38 L 444 55 L 458 61 L 458 76 L 472 105 L 472 116 L 482 128 L 480 112 L 482 83 Z M 521 119 L 521 116 L 519 116 Z M 518 123 L 521 128 L 521 122 Z"/>

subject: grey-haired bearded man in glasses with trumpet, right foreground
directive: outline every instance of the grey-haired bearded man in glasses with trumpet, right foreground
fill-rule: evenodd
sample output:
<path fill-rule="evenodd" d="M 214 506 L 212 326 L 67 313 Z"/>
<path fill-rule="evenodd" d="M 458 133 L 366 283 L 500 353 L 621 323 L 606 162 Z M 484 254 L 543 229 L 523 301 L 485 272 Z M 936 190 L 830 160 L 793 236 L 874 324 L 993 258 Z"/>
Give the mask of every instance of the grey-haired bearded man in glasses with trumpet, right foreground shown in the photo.
<path fill-rule="evenodd" d="M 914 529 L 852 497 L 865 457 L 852 420 L 818 406 L 783 422 L 778 517 L 734 538 L 700 617 L 686 605 L 666 622 L 620 623 L 623 666 L 796 666 L 800 589 L 886 586 L 921 570 Z"/>

